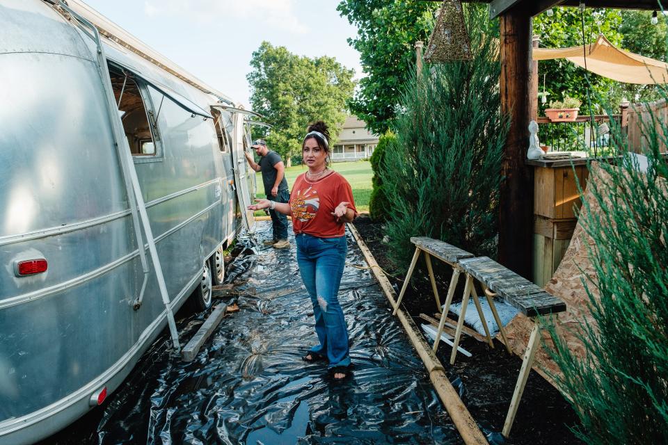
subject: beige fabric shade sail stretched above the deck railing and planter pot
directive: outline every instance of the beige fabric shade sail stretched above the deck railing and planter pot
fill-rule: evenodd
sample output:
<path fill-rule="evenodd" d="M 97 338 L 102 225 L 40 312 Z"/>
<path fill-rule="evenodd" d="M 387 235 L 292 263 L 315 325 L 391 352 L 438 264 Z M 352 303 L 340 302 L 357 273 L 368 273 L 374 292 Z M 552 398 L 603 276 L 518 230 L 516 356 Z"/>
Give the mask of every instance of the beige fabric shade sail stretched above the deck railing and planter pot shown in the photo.
<path fill-rule="evenodd" d="M 533 51 L 534 60 L 566 58 L 583 68 L 585 56 L 586 69 L 608 79 L 642 85 L 668 83 L 667 63 L 615 48 L 603 35 L 584 47 L 534 48 Z"/>

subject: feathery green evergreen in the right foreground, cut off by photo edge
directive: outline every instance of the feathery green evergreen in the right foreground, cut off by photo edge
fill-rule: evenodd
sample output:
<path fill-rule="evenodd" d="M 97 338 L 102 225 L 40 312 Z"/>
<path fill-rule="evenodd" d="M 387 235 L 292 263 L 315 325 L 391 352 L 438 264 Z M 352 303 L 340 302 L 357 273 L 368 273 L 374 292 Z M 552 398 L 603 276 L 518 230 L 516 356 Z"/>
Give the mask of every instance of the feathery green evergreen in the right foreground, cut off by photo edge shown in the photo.
<path fill-rule="evenodd" d="M 601 163 L 587 184 L 593 204 L 584 202 L 580 224 L 596 271 L 583 279 L 595 321 L 578 335 L 587 355 L 550 332 L 562 372 L 553 377 L 587 444 L 668 444 L 668 165 L 660 154 L 668 122 L 654 115 L 642 127 L 647 172 L 622 147 L 621 161 Z M 615 130 L 612 140 L 623 140 Z"/>

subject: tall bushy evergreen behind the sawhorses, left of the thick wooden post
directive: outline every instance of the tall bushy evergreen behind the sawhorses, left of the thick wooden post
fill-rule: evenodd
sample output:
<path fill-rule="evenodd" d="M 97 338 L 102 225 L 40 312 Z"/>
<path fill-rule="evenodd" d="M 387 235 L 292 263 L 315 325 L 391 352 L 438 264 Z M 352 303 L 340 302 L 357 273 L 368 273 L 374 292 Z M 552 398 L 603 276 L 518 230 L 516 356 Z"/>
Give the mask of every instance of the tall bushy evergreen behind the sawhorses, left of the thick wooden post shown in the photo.
<path fill-rule="evenodd" d="M 472 60 L 425 65 L 401 101 L 397 147 L 380 172 L 390 198 L 390 259 L 405 270 L 411 236 L 431 236 L 495 256 L 502 147 L 498 21 L 466 7 Z"/>

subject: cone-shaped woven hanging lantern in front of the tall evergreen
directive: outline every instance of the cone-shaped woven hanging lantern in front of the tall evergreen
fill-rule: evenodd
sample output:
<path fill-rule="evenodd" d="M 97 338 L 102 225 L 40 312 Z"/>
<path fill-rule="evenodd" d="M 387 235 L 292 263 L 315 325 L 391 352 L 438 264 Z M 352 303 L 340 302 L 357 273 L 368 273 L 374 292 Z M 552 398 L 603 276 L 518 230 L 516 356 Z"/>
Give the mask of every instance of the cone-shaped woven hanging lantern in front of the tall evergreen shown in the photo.
<path fill-rule="evenodd" d="M 439 63 L 471 58 L 471 40 L 466 31 L 461 0 L 443 0 L 436 27 L 424 52 L 424 61 Z"/>

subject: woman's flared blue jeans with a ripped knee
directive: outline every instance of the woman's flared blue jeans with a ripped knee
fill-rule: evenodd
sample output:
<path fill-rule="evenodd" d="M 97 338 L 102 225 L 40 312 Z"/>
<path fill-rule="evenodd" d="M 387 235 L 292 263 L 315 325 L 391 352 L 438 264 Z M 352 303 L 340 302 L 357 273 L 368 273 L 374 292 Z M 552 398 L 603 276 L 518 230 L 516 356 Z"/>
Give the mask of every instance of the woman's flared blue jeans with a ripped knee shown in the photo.
<path fill-rule="evenodd" d="M 337 298 L 348 250 L 346 237 L 296 234 L 294 238 L 299 273 L 311 297 L 315 332 L 320 341 L 310 352 L 326 356 L 329 367 L 349 366 L 348 329 Z"/>

